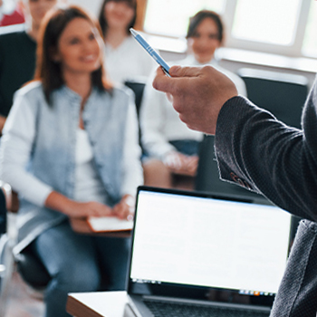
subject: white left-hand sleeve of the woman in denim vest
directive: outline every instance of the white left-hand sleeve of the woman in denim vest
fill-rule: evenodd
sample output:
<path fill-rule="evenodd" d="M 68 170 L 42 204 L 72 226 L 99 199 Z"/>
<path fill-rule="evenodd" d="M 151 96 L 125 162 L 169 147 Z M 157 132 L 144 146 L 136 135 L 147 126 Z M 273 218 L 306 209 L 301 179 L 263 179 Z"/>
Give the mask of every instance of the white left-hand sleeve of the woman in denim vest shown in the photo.
<path fill-rule="evenodd" d="M 53 188 L 27 171 L 36 133 L 34 102 L 17 92 L 5 122 L 0 149 L 0 178 L 26 200 L 43 206 Z"/>

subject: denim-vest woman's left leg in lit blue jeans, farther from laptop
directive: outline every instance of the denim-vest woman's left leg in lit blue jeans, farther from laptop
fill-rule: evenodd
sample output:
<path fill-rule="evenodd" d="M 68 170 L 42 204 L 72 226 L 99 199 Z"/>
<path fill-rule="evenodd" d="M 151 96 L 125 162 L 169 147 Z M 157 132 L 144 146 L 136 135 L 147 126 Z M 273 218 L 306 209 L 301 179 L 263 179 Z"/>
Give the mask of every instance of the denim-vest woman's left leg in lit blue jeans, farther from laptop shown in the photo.
<path fill-rule="evenodd" d="M 45 290 L 45 316 L 70 316 L 66 313 L 67 293 L 96 291 L 100 285 L 93 239 L 74 233 L 65 222 L 44 231 L 32 247 L 52 276 Z"/>

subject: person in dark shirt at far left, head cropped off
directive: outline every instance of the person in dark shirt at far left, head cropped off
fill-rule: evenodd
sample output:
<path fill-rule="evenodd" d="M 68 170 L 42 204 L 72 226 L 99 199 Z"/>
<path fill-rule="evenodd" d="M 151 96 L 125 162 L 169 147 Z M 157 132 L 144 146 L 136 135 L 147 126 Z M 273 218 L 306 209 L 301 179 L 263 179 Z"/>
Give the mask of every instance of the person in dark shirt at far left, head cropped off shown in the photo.
<path fill-rule="evenodd" d="M 0 29 L 0 132 L 14 92 L 34 77 L 36 39 L 43 16 L 58 0 L 25 0 L 26 24 Z"/>

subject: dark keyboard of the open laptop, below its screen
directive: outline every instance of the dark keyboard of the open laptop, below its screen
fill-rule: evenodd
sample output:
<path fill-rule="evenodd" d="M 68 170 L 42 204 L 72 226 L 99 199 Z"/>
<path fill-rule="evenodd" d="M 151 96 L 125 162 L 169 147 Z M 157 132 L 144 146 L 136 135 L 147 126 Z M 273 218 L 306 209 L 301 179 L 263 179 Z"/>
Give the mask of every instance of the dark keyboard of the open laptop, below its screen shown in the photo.
<path fill-rule="evenodd" d="M 144 300 L 155 317 L 268 317 L 270 312 Z"/>

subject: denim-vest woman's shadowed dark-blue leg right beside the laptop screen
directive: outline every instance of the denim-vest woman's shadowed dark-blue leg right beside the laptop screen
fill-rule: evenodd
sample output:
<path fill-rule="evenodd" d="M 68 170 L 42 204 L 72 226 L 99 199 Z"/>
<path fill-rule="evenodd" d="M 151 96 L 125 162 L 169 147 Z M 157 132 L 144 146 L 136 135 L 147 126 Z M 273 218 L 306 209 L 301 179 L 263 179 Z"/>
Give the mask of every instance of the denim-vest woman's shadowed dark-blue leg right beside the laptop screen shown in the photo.
<path fill-rule="evenodd" d="M 107 291 L 125 290 L 130 238 L 96 237 L 101 270 L 107 275 Z"/>

